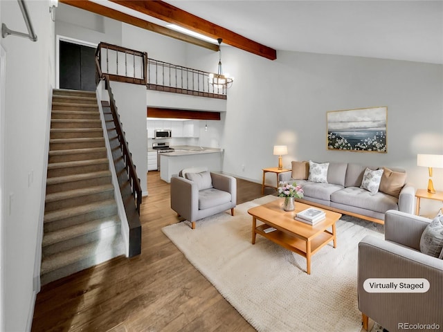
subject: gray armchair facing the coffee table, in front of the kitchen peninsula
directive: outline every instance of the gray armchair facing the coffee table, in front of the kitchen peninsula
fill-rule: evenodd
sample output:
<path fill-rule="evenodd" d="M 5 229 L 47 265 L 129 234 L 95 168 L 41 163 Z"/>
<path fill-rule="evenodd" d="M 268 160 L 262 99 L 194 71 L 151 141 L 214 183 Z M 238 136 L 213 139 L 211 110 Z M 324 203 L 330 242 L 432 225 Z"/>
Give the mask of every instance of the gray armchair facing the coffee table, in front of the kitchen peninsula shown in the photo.
<path fill-rule="evenodd" d="M 206 178 L 201 180 L 201 174 Z M 233 176 L 213 172 L 188 172 L 186 177 L 181 173 L 171 178 L 171 208 L 179 216 L 190 221 L 192 229 L 195 229 L 195 221 L 206 216 L 229 209 L 234 215 L 237 205 L 237 181 Z"/>

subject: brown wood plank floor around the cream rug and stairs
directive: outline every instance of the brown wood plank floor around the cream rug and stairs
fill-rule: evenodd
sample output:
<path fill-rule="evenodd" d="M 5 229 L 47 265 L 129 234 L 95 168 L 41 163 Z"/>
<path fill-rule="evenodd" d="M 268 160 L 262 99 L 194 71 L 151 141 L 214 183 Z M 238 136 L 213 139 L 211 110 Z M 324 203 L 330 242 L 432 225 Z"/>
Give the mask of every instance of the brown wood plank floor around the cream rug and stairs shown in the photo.
<path fill-rule="evenodd" d="M 255 331 L 161 232 L 179 219 L 159 175 L 147 176 L 141 255 L 43 286 L 32 331 Z M 237 179 L 237 204 L 260 196 L 261 185 Z"/>

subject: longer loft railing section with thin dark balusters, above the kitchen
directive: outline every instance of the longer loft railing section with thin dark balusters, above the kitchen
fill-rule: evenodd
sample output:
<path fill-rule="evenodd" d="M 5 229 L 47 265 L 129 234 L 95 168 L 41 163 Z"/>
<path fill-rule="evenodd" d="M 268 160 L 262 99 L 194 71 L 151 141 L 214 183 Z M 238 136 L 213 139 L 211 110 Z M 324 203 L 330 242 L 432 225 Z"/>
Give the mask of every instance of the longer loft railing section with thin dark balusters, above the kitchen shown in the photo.
<path fill-rule="evenodd" d="M 206 71 L 148 59 L 147 89 L 226 99 L 226 88 L 210 84 L 209 74 Z"/>

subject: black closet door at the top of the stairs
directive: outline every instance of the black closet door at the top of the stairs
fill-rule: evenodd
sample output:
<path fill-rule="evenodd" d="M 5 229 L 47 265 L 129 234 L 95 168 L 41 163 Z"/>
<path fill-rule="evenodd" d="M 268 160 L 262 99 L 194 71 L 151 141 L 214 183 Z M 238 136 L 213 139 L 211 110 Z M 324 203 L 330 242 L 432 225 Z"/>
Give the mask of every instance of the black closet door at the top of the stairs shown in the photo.
<path fill-rule="evenodd" d="M 96 49 L 60 41 L 60 89 L 96 90 Z"/>

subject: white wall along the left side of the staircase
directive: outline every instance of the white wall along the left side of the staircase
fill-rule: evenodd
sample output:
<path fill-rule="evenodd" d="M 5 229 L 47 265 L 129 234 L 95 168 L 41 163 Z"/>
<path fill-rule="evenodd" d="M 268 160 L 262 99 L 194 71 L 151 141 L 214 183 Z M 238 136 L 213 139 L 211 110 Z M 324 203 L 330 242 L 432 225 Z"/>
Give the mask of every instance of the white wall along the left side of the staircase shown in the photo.
<path fill-rule="evenodd" d="M 27 331 L 38 291 L 46 185 L 48 116 L 54 82 L 54 29 L 49 1 L 26 1 L 37 42 L 8 36 L 6 50 L 5 293 L 2 331 Z M 1 1 L 1 22 L 26 32 L 17 1 Z M 10 202 L 10 196 L 12 201 Z M 9 208 L 10 206 L 10 208 Z"/>

